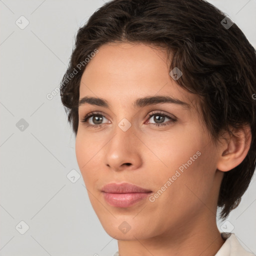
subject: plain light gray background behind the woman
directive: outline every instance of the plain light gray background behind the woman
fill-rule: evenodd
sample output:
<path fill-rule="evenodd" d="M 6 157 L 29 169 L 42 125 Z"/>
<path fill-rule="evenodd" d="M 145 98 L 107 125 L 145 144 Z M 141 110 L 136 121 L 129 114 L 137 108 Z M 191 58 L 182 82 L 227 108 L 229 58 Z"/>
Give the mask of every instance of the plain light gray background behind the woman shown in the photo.
<path fill-rule="evenodd" d="M 227 13 L 256 47 L 256 0 L 209 2 Z M 1 256 L 103 256 L 117 250 L 79 177 L 74 135 L 59 93 L 46 97 L 54 94 L 66 70 L 78 27 L 103 3 L 0 0 Z M 21 15 L 29 22 L 25 28 Z M 75 177 L 67 178 L 71 170 Z M 232 230 L 253 253 L 255 212 L 254 175 L 228 222 L 217 221 L 220 231 Z M 27 231 L 20 221 L 29 226 Z"/>

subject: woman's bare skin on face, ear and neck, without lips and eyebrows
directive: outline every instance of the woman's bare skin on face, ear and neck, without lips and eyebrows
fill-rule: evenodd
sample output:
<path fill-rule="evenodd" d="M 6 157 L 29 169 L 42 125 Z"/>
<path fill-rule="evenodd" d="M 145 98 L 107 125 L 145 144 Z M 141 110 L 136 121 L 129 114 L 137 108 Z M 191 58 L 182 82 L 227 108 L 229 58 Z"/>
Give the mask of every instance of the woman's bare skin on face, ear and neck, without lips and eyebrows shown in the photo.
<path fill-rule="evenodd" d="M 220 182 L 224 171 L 246 156 L 249 128 L 215 145 L 196 108 L 198 96 L 170 77 L 164 50 L 127 42 L 98 50 L 83 72 L 79 95 L 104 98 L 110 107 L 79 106 L 75 151 L 103 228 L 118 240 L 121 256 L 214 255 L 224 242 L 216 226 Z M 189 107 L 157 103 L 134 108 L 135 99 L 155 95 L 171 95 Z M 99 128 L 81 121 L 92 111 L 104 115 Z M 148 117 L 152 111 L 176 121 L 165 118 L 162 122 L 168 125 L 158 127 L 155 115 Z M 118 126 L 123 118 L 131 124 L 126 131 Z M 92 117 L 87 122 L 95 124 Z M 156 193 L 197 151 L 200 156 L 153 202 L 146 198 L 130 207 L 114 207 L 100 192 L 107 183 L 128 182 Z M 118 228 L 123 221 L 131 227 L 126 233 Z"/>

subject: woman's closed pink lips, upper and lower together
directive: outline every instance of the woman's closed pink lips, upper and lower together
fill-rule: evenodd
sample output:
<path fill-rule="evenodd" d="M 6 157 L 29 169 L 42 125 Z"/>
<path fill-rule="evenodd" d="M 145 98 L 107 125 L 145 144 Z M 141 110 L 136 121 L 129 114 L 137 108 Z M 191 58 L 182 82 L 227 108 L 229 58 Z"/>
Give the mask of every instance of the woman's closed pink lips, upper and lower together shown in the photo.
<path fill-rule="evenodd" d="M 109 183 L 101 188 L 105 201 L 111 206 L 128 207 L 145 199 L 151 190 L 130 183 Z"/>

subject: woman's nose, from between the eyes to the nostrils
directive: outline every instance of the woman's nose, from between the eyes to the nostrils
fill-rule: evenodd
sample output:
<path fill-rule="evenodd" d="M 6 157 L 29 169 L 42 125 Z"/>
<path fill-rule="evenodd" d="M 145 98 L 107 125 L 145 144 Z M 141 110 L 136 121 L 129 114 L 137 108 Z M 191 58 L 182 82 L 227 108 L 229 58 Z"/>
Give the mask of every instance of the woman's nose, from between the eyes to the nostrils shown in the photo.
<path fill-rule="evenodd" d="M 135 170 L 142 164 L 141 141 L 131 125 L 126 131 L 118 125 L 105 147 L 105 164 L 114 171 Z"/>

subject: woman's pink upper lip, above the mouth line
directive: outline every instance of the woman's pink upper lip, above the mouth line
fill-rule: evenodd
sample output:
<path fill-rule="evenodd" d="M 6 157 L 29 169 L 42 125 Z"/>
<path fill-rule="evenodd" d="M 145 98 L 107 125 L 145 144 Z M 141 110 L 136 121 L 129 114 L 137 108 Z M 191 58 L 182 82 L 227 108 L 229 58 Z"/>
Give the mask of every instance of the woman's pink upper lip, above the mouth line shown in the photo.
<path fill-rule="evenodd" d="M 106 193 L 147 193 L 152 192 L 149 189 L 142 188 L 130 183 L 108 183 L 101 188 Z"/>

